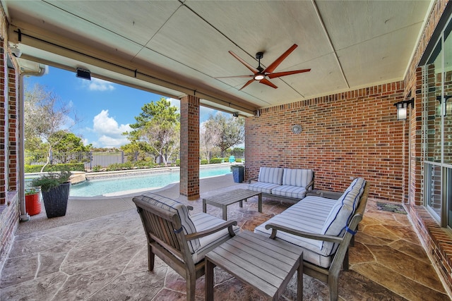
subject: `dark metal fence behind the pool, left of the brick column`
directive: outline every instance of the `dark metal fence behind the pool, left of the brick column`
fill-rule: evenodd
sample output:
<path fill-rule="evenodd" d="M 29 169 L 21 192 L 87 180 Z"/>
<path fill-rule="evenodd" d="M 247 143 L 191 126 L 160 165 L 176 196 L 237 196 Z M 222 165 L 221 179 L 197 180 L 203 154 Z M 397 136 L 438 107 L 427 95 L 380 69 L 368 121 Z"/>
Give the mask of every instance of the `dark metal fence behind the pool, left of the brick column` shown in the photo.
<path fill-rule="evenodd" d="M 68 152 L 56 153 L 52 152 L 49 159 L 50 164 L 68 164 L 81 163 L 85 164 L 85 169 L 93 169 L 95 166 L 105 168 L 111 164 L 124 164 L 126 162 L 138 161 L 146 157 L 156 160 L 153 154 L 139 154 L 138 152 L 125 153 L 118 152 Z M 47 155 L 42 153 L 25 152 L 25 164 L 28 165 L 44 165 L 47 161 Z"/>

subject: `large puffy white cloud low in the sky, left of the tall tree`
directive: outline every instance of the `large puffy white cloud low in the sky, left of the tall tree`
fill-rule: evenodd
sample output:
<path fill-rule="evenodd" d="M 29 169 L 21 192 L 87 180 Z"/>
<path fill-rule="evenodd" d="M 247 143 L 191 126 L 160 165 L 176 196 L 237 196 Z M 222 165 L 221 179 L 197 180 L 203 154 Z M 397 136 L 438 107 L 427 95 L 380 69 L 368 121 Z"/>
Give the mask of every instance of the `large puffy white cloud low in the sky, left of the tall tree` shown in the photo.
<path fill-rule="evenodd" d="M 98 136 L 96 147 L 120 147 L 126 145 L 129 140 L 123 135 L 130 131 L 129 124 L 119 125 L 117 121 L 108 115 L 108 110 L 102 110 L 93 118 L 93 132 Z"/>

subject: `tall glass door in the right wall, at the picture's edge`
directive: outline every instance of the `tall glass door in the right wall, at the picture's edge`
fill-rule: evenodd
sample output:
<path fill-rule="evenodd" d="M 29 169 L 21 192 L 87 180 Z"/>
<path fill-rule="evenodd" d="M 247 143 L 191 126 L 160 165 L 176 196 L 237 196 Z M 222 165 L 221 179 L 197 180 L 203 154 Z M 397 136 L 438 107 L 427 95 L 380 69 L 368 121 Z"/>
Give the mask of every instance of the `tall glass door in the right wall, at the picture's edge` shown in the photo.
<path fill-rule="evenodd" d="M 424 204 L 452 228 L 452 22 L 423 66 Z"/>

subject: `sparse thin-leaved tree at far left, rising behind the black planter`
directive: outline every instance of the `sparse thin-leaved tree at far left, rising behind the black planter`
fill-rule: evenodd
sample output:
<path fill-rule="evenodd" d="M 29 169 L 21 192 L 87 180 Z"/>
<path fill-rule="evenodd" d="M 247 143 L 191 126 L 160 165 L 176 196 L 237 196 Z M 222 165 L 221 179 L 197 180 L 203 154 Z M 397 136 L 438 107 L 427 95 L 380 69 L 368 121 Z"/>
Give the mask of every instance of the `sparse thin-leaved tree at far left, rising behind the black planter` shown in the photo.
<path fill-rule="evenodd" d="M 69 129 L 77 123 L 76 113 L 69 104 L 39 84 L 32 90 L 25 89 L 24 96 L 24 130 L 25 140 L 28 140 L 26 145 L 32 149 L 45 149 L 47 161 L 42 166 L 43 171 L 49 164 L 53 147 L 59 144 L 59 138 L 64 137 L 57 136 L 56 133 L 69 133 Z"/>

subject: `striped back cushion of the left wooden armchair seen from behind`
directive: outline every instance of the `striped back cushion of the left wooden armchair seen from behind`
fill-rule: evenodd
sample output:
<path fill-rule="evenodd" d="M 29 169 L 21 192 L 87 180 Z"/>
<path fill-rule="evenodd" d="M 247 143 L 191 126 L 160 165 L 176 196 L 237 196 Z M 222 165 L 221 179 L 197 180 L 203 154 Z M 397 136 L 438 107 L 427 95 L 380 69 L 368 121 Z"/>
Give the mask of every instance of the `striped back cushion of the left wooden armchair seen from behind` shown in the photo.
<path fill-rule="evenodd" d="M 141 199 L 145 200 L 149 204 L 153 204 L 155 207 L 160 207 L 179 215 L 184 234 L 196 233 L 196 226 L 191 220 L 189 210 L 186 208 L 185 204 L 177 202 L 174 199 L 169 199 L 169 197 L 156 195 L 153 192 L 144 193 L 143 195 L 141 195 Z M 198 239 L 190 240 L 188 244 L 191 254 L 194 254 L 195 251 L 198 250 L 201 246 L 201 243 Z"/>

